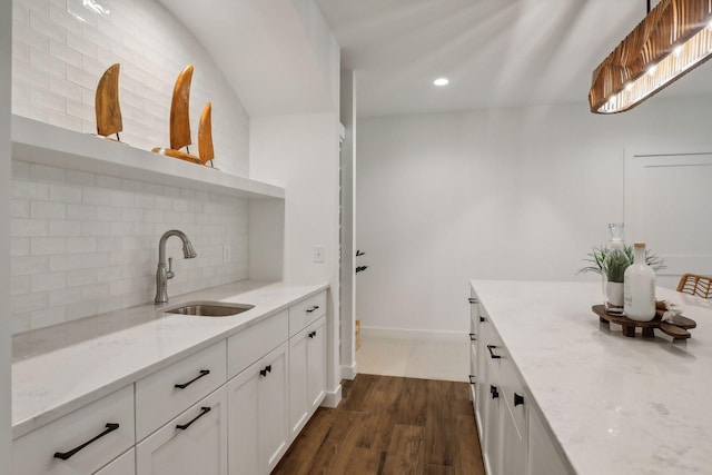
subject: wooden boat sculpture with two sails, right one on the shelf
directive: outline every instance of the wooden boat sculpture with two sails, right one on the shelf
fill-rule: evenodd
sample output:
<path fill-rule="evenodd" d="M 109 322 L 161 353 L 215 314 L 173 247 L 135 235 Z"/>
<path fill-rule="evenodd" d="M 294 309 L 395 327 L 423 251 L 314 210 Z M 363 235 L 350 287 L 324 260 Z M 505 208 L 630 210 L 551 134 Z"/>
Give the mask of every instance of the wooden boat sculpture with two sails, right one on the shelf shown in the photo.
<path fill-rule="evenodd" d="M 170 148 L 156 147 L 152 151 L 192 164 L 206 165 L 214 158 L 210 102 L 206 105 L 200 116 L 200 125 L 198 128 L 198 149 L 200 157 L 191 155 L 188 148 L 188 146 L 191 145 L 189 103 L 192 69 L 192 65 L 188 65 L 186 69 L 180 71 L 176 80 L 176 86 L 174 87 L 174 97 L 170 103 Z M 186 151 L 180 150 L 184 147 Z"/>

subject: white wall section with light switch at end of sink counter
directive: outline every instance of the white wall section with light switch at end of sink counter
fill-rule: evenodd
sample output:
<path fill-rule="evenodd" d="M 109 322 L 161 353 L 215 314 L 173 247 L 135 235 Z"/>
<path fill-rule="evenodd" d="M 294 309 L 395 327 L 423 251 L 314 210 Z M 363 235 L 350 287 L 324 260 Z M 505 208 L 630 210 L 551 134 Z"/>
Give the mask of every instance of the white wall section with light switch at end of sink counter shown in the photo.
<path fill-rule="evenodd" d="M 253 118 L 249 140 L 250 177 L 286 190 L 284 280 L 330 285 L 327 359 L 330 400 L 335 402 L 340 398 L 338 115 Z M 324 263 L 313 261 L 315 245 L 324 246 Z"/>

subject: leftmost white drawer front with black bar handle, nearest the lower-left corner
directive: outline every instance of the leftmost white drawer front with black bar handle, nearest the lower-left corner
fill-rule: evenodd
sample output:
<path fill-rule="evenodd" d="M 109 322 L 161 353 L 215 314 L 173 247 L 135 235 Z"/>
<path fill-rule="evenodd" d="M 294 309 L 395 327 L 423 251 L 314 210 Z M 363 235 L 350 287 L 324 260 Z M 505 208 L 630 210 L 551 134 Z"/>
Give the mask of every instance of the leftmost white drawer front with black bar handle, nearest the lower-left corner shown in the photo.
<path fill-rule="evenodd" d="M 134 443 L 134 386 L 129 385 L 14 441 L 12 473 L 90 474 Z M 68 458 L 58 458 L 59 454 Z"/>

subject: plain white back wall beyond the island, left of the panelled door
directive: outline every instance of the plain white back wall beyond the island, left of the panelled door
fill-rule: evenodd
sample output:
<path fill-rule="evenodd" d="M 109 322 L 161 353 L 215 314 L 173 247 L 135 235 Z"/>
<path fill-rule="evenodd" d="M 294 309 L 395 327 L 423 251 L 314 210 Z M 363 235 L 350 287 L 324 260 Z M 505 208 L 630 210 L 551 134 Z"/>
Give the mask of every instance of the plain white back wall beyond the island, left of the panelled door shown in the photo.
<path fill-rule="evenodd" d="M 575 274 L 623 218 L 624 148 L 709 144 L 711 109 L 657 97 L 611 117 L 581 103 L 359 119 L 362 326 L 465 331 L 471 278 L 595 279 Z"/>

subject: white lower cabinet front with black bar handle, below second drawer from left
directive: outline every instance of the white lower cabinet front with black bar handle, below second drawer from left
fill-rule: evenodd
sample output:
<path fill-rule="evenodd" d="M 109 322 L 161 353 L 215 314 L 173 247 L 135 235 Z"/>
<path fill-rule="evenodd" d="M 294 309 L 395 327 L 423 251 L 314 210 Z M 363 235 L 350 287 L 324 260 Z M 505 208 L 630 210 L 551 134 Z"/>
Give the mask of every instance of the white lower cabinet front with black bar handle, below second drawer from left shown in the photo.
<path fill-rule="evenodd" d="M 225 386 L 138 444 L 136 472 L 137 475 L 227 475 Z"/>

